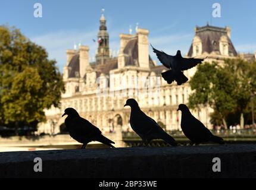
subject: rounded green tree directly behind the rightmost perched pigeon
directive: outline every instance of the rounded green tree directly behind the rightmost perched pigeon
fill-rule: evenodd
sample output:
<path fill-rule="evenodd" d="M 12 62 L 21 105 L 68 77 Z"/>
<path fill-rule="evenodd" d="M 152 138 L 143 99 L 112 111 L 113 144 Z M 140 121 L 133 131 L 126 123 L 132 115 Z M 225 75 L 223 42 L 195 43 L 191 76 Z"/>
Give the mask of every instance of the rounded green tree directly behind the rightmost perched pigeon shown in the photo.
<path fill-rule="evenodd" d="M 217 62 L 205 62 L 198 69 L 189 82 L 194 90 L 189 96 L 189 106 L 209 105 L 227 127 L 226 118 L 229 112 L 235 110 L 235 100 L 230 91 L 233 90 L 232 81 L 225 71 L 220 69 Z"/>

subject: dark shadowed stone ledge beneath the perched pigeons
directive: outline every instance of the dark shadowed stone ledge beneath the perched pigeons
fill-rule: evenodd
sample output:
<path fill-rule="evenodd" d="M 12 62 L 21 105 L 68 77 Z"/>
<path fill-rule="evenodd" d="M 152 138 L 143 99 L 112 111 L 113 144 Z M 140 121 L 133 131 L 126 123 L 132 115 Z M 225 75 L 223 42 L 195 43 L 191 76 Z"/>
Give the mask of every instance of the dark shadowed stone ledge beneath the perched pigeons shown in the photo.
<path fill-rule="evenodd" d="M 34 172 L 35 157 L 42 172 Z M 213 172 L 213 158 L 221 172 Z M 0 153 L 0 178 L 256 178 L 256 144 Z"/>

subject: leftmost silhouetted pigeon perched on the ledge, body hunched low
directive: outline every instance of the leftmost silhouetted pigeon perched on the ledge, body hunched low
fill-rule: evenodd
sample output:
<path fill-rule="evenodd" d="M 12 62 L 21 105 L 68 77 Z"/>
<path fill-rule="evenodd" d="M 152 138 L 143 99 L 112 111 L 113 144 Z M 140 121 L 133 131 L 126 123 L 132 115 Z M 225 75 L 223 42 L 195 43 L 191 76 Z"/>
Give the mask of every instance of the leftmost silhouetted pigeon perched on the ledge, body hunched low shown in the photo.
<path fill-rule="evenodd" d="M 79 113 L 72 107 L 65 109 L 62 116 L 68 115 L 65 118 L 65 126 L 74 140 L 82 143 L 82 148 L 85 148 L 91 141 L 99 141 L 100 143 L 107 144 L 114 148 L 113 141 L 109 140 L 101 134 L 101 131 L 96 126 L 92 125 L 88 120 L 79 116 Z"/>

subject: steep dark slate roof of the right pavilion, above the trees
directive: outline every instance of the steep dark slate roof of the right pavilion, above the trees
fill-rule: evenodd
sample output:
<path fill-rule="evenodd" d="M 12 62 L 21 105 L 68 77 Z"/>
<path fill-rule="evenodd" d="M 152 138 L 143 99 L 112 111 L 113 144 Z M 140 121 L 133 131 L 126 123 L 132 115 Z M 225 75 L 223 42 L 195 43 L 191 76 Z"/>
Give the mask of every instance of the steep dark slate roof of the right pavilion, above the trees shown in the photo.
<path fill-rule="evenodd" d="M 221 36 L 226 36 L 228 43 L 229 43 L 229 55 L 230 56 L 237 56 L 238 53 L 233 46 L 229 36 L 227 35 L 227 29 L 221 27 L 214 27 L 214 26 L 204 26 L 204 27 L 196 27 L 195 36 L 198 36 L 202 41 L 202 53 L 207 52 L 216 52 L 220 54 L 220 38 Z M 188 52 L 188 56 L 193 55 L 193 46 L 191 47 Z"/>

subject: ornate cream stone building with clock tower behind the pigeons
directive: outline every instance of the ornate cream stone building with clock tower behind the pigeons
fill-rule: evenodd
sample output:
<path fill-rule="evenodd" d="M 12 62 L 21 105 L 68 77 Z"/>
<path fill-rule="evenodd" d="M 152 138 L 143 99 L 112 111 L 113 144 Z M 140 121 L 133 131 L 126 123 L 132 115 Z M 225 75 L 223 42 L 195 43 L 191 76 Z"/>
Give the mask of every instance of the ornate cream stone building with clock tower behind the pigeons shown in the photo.
<path fill-rule="evenodd" d="M 63 69 L 65 93 L 62 94 L 61 106 L 45 110 L 47 122 L 39 125 L 38 132 L 59 132 L 64 122 L 61 115 L 67 107 L 74 107 L 80 116 L 103 132 L 117 127 L 131 131 L 130 108 L 123 107 L 129 98 L 136 99 L 141 109 L 165 125 L 167 130 L 180 130 L 181 113 L 176 110 L 180 103 L 188 103 L 191 88 L 189 83 L 169 85 L 161 78 L 161 72 L 166 68 L 157 65 L 149 56 L 148 34 L 146 29 L 138 29 L 136 34 L 120 34 L 119 54 L 113 58 L 110 56 L 109 35 L 102 14 L 96 61 L 89 62 L 88 46 L 67 50 L 67 64 Z M 211 62 L 235 58 L 238 53 L 230 40 L 229 27 L 207 24 L 195 28 L 187 56 L 207 57 L 205 61 Z M 184 72 L 190 79 L 195 71 L 196 67 Z M 149 93 L 152 89 L 155 91 L 153 94 Z M 211 128 L 209 115 L 212 111 L 204 106 L 192 113 Z"/>

